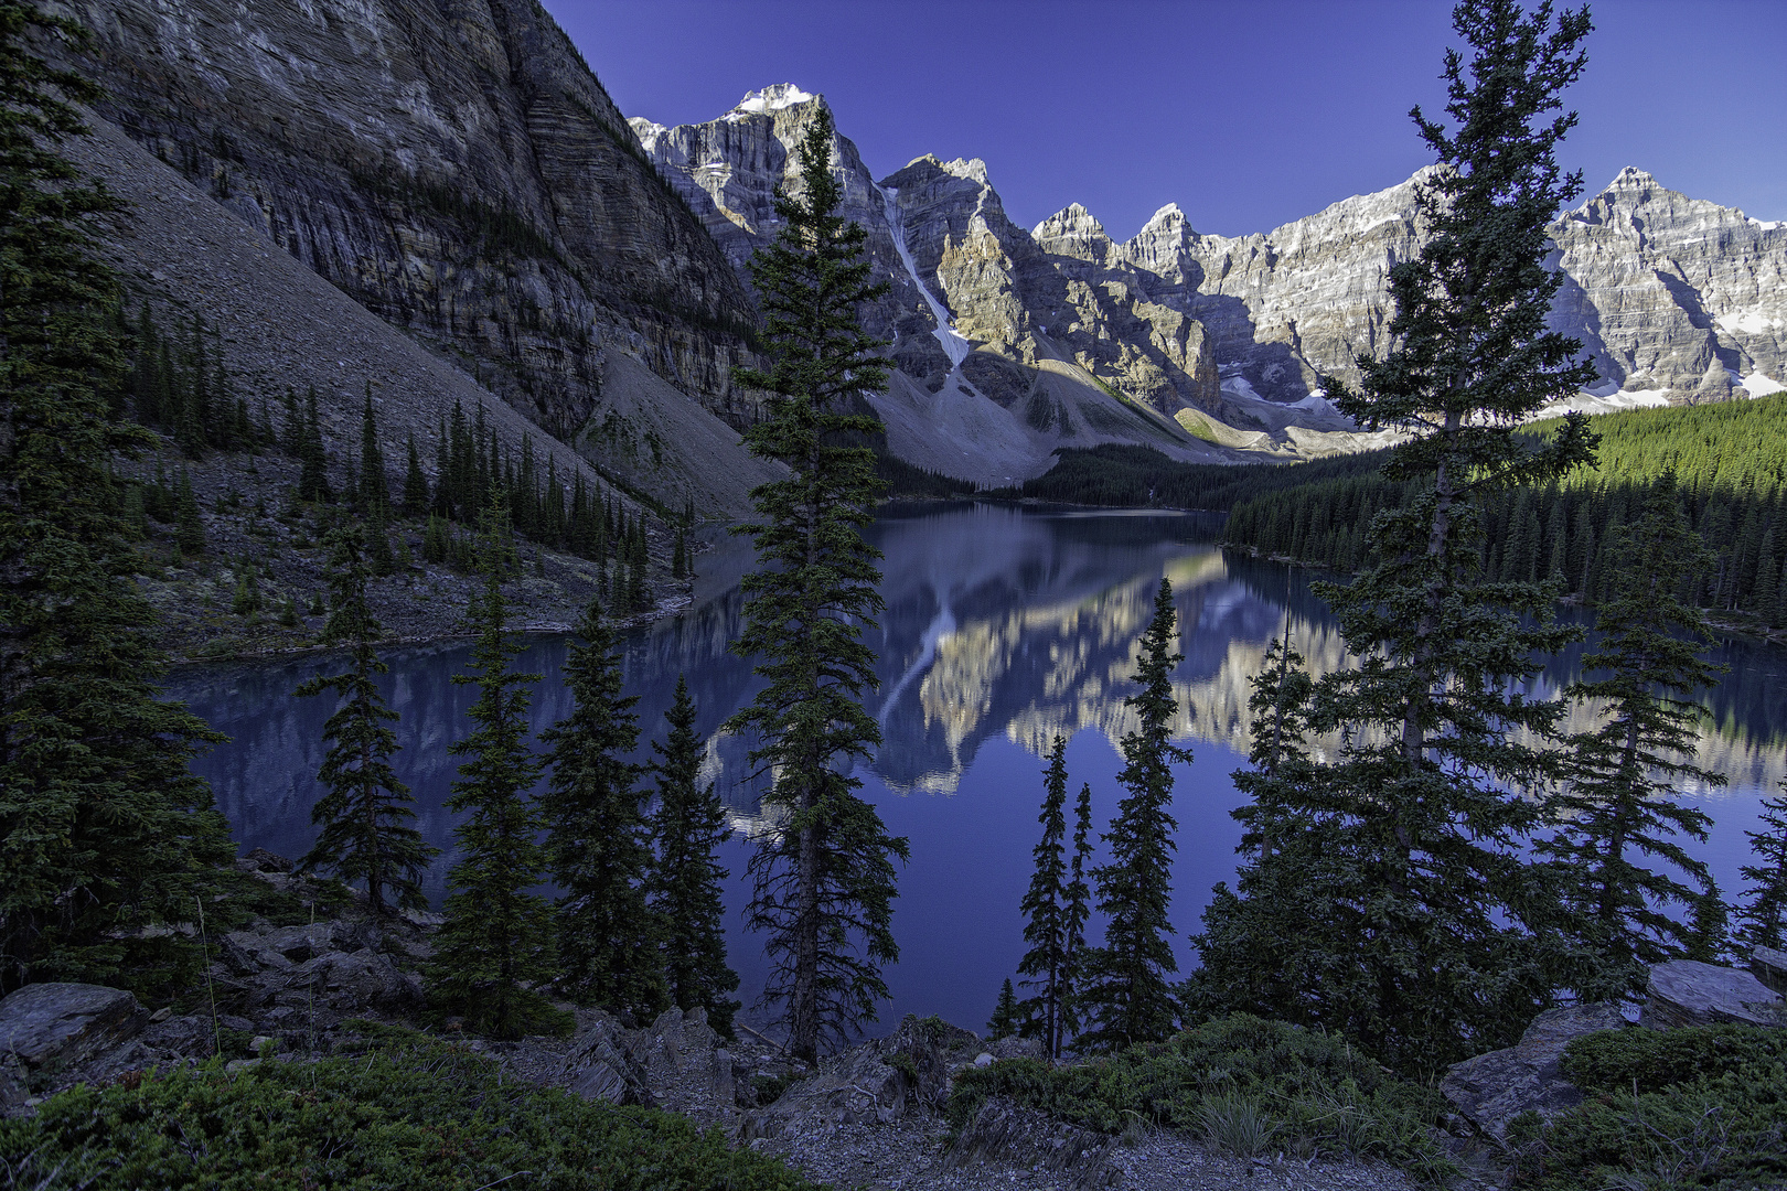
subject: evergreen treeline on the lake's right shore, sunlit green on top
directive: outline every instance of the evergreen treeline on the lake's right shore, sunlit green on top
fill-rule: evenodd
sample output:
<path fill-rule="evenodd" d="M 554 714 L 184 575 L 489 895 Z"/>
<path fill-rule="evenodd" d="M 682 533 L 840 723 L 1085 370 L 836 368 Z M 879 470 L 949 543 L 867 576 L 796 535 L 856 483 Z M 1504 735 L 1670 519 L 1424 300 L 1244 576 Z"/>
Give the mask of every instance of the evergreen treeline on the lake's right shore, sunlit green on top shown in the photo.
<path fill-rule="evenodd" d="M 1787 396 L 1637 409 L 1592 425 L 1601 436 L 1598 468 L 1485 504 L 1487 577 L 1558 577 L 1573 595 L 1605 598 L 1612 577 L 1601 546 L 1615 525 L 1637 518 L 1651 482 L 1673 471 L 1694 529 L 1717 555 L 1707 573 L 1683 580 L 1682 595 L 1787 623 Z M 1356 455 L 1360 471 L 1340 477 L 1319 471 L 1322 464 L 1279 470 L 1296 480 L 1233 502 L 1224 541 L 1338 571 L 1363 566 L 1371 520 L 1406 495 L 1374 473 L 1380 461 Z"/>

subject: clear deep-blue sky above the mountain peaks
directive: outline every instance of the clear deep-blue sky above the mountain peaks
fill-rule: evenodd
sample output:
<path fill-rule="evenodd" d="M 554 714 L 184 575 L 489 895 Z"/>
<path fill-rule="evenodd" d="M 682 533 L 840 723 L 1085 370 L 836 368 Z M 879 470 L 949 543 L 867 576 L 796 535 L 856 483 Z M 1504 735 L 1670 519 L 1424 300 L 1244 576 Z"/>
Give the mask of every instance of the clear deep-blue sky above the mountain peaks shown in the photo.
<path fill-rule="evenodd" d="M 745 91 L 824 93 L 876 177 L 981 157 L 1031 227 L 1070 202 L 1124 239 L 1176 202 L 1262 232 L 1430 161 L 1440 0 L 545 0 L 627 116 L 713 120 Z M 1787 2 L 1601 0 L 1564 146 L 1592 195 L 1623 166 L 1787 220 Z"/>

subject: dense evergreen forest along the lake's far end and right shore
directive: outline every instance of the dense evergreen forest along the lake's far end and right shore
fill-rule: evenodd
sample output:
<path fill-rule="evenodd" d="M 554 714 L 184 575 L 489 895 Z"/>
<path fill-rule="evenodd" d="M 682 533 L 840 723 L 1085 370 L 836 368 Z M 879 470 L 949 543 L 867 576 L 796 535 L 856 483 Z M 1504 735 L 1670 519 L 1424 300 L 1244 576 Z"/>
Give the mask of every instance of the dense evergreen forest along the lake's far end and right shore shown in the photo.
<path fill-rule="evenodd" d="M 1531 434 L 1553 429 L 1542 423 Z M 1787 625 L 1787 396 L 1635 409 L 1594 418 L 1592 429 L 1601 437 L 1596 466 L 1485 500 L 1485 577 L 1558 577 L 1565 593 L 1605 600 L 1608 532 L 1635 520 L 1651 484 L 1674 473 L 1694 529 L 1717 555 L 1707 575 L 1685 580 L 1683 598 Z M 1355 571 L 1369 562 L 1372 518 L 1410 495 L 1412 480 L 1380 475 L 1387 457 L 1221 466 L 1106 445 L 1061 450 L 1045 475 L 995 495 L 1228 511 L 1228 545 Z"/>

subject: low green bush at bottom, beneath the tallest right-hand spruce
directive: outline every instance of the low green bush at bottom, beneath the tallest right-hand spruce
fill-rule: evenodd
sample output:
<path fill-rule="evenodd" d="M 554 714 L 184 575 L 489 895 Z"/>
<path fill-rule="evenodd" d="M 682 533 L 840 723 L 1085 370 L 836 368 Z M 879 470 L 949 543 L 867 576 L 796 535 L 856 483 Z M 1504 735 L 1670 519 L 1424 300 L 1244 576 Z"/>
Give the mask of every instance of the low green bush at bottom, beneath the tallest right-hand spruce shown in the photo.
<path fill-rule="evenodd" d="M 1283 1139 L 1287 1150 L 1383 1157 L 1431 1180 L 1453 1171 L 1431 1129 L 1444 1105 L 1430 1089 L 1342 1037 L 1244 1012 L 1097 1062 L 1051 1070 L 1008 1059 L 963 1071 L 951 1121 L 960 1129 L 988 1096 L 1108 1134 L 1142 1120 L 1237 1154 Z"/>

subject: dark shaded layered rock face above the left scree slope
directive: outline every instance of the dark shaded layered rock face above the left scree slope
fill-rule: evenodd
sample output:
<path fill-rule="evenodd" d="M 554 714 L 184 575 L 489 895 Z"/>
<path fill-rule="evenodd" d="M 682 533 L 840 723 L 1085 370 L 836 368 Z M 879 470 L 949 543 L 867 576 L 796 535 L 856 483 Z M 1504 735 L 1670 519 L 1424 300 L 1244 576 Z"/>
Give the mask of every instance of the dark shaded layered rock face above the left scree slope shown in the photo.
<path fill-rule="evenodd" d="M 629 345 L 743 411 L 752 304 L 534 0 L 71 0 L 102 114 L 570 439 Z"/>

